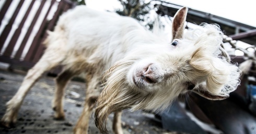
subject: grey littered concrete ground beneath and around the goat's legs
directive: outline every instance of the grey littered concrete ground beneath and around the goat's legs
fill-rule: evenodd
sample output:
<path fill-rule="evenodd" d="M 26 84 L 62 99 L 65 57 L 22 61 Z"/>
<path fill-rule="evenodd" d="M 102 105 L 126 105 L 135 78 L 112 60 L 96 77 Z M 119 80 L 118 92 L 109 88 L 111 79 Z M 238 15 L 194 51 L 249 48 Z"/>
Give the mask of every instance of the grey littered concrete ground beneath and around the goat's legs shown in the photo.
<path fill-rule="evenodd" d="M 13 97 L 19 88 L 26 73 L 17 71 L 9 72 L 0 70 L 0 117 L 5 113 L 5 103 Z M 43 76 L 29 91 L 17 117 L 14 128 L 0 127 L 0 133 L 72 133 L 73 127 L 83 110 L 85 99 L 85 84 L 82 82 L 70 82 L 66 88 L 65 95 L 65 120 L 54 120 L 51 100 L 54 92 L 53 77 Z M 110 133 L 111 119 L 109 116 L 107 128 Z M 167 132 L 161 128 L 161 122 L 153 114 L 142 111 L 130 112 L 125 110 L 122 115 L 122 127 L 124 133 L 177 133 Z M 89 133 L 100 133 L 90 120 Z"/>

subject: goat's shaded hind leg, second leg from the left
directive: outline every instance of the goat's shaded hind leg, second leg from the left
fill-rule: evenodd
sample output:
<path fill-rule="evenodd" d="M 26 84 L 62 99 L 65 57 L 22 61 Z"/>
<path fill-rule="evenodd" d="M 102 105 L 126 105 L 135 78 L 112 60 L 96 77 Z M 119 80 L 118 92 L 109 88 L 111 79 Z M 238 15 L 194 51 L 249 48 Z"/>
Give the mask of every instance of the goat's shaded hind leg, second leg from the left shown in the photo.
<path fill-rule="evenodd" d="M 63 110 L 63 100 L 64 92 L 68 81 L 75 75 L 74 72 L 70 70 L 64 70 L 57 78 L 55 79 L 56 87 L 54 93 L 54 99 L 52 101 L 52 109 L 55 111 L 55 119 L 64 119 L 65 114 Z"/>

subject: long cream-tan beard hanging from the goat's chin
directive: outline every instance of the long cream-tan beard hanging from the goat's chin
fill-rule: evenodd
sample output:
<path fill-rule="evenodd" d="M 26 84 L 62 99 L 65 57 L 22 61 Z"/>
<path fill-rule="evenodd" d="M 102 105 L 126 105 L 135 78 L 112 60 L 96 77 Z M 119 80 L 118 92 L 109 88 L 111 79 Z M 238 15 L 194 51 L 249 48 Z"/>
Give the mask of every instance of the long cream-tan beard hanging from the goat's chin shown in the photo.
<path fill-rule="evenodd" d="M 151 93 L 133 90 L 126 80 L 126 74 L 134 63 L 134 59 L 123 60 L 110 68 L 104 75 L 103 90 L 96 102 L 95 124 L 102 133 L 108 133 L 106 122 L 111 112 L 132 108 L 144 108 L 144 101 Z"/>

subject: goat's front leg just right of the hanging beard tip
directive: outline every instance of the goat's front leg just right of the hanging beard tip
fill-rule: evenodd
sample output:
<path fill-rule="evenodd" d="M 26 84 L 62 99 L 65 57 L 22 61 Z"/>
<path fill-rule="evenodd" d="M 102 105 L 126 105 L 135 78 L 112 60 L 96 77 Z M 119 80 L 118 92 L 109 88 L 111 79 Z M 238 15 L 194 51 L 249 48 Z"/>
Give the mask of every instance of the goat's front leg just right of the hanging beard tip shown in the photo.
<path fill-rule="evenodd" d="M 121 116 L 122 116 L 122 111 L 114 112 L 112 129 L 115 134 L 123 134 Z"/>

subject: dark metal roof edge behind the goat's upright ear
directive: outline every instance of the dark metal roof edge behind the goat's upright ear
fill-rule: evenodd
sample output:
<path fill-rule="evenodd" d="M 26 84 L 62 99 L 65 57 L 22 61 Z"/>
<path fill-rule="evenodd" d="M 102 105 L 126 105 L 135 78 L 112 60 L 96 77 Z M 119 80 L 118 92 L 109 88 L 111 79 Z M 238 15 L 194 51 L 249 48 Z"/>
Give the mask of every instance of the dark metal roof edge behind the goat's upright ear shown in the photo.
<path fill-rule="evenodd" d="M 180 9 L 182 6 L 168 2 L 161 2 L 155 4 L 155 7 L 158 8 L 157 14 L 173 17 L 178 9 Z M 250 26 L 191 8 L 189 8 L 188 11 L 187 21 L 195 24 L 201 24 L 202 22 L 217 23 L 219 24 L 220 29 L 223 30 L 224 34 L 231 37 L 236 37 L 236 39 L 239 39 L 242 42 L 256 45 L 256 28 L 254 26 Z"/>

